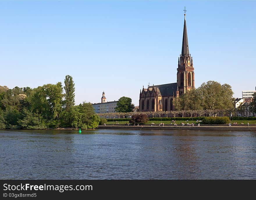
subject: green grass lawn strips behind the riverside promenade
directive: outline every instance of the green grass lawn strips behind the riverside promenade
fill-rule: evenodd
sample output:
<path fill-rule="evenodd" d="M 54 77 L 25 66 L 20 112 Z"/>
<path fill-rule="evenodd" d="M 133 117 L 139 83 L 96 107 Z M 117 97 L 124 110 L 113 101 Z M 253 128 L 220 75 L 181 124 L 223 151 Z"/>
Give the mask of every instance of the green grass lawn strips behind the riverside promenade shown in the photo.
<path fill-rule="evenodd" d="M 147 123 L 146 123 L 146 125 L 151 125 L 151 123 L 155 123 L 155 124 L 159 124 L 159 123 L 161 123 L 161 121 L 148 121 Z M 172 123 L 172 125 L 174 125 L 174 123 L 176 123 L 176 124 L 178 124 L 178 125 L 180 125 L 181 123 L 184 123 L 185 125 L 187 124 L 187 123 L 189 123 L 189 124 L 192 124 L 192 123 L 195 123 L 195 124 L 198 124 L 198 123 L 196 123 L 196 121 L 195 120 L 189 120 L 188 122 L 186 121 L 186 120 L 183 120 L 183 121 L 181 121 L 181 120 L 177 120 L 176 122 L 171 122 L 171 121 L 162 121 L 162 123 L 164 123 L 164 125 L 166 125 L 166 126 L 168 126 L 168 125 L 171 125 L 170 123 Z M 249 124 L 256 124 L 256 120 L 232 120 L 231 121 L 231 124 L 233 124 L 233 123 L 237 123 L 237 125 L 241 125 L 241 123 L 243 123 L 244 125 L 247 125 L 247 122 L 249 122 Z M 118 124 L 125 124 L 125 123 L 129 123 L 129 120 L 128 121 L 121 121 L 121 122 L 118 122 Z M 200 124 L 203 124 L 202 122 L 200 122 Z M 106 125 L 113 125 L 113 122 L 107 122 L 106 123 Z M 115 125 L 115 121 L 114 121 L 114 125 Z"/>

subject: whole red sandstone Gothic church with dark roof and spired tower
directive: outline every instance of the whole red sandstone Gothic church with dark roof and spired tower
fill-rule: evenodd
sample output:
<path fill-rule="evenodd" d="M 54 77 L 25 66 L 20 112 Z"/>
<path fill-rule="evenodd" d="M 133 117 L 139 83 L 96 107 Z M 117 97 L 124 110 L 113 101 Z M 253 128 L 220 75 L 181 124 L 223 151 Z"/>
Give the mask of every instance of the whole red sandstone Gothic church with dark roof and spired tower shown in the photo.
<path fill-rule="evenodd" d="M 186 28 L 186 10 L 184 14 L 184 29 L 182 50 L 178 58 L 177 82 L 163 85 L 152 85 L 141 90 L 139 111 L 171 111 L 173 99 L 186 91 L 195 88 L 193 59 L 189 54 L 189 44 Z"/>

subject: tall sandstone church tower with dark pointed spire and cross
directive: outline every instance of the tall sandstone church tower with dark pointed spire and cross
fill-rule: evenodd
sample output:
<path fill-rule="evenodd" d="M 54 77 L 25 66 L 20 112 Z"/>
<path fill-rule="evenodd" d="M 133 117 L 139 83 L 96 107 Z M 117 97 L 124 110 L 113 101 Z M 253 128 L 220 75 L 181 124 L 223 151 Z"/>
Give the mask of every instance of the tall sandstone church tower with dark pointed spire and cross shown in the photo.
<path fill-rule="evenodd" d="M 195 75 L 193 68 L 193 59 L 189 54 L 189 43 L 186 28 L 186 9 L 184 10 L 184 28 L 182 39 L 182 50 L 180 57 L 178 58 L 177 68 L 177 85 L 179 88 L 179 94 L 184 94 L 186 91 L 195 88 Z"/>

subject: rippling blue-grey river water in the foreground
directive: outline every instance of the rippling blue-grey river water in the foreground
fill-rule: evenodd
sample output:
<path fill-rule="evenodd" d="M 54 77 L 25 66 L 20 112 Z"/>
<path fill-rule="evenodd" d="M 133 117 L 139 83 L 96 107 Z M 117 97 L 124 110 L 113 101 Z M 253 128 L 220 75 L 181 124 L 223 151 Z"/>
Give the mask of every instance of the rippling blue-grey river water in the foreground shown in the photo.
<path fill-rule="evenodd" d="M 0 179 L 256 179 L 256 131 L 0 130 Z"/>

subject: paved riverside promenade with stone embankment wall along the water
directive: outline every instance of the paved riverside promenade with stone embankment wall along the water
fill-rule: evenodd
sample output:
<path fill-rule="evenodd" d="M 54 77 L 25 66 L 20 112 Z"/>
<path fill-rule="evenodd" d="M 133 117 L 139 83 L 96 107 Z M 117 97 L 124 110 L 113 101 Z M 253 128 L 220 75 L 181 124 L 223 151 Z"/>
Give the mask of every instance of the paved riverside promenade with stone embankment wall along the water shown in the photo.
<path fill-rule="evenodd" d="M 146 126 L 127 126 L 127 125 L 106 125 L 98 126 L 97 129 L 163 129 L 163 130 L 219 130 L 219 131 L 256 131 L 256 125 L 234 125 L 229 127 L 228 125 L 200 125 L 200 126 L 158 126 L 158 125 L 146 125 Z"/>

